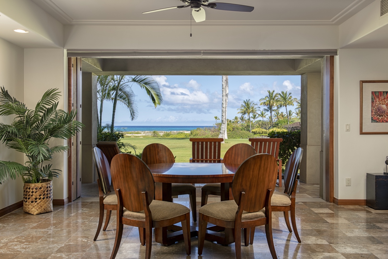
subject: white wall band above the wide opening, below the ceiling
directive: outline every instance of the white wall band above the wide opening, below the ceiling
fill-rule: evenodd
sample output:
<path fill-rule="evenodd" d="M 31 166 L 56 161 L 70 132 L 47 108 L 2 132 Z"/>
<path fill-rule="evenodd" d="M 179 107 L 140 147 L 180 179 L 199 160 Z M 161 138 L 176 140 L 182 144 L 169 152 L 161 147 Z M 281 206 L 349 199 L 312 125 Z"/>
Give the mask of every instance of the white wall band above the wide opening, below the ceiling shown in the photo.
<path fill-rule="evenodd" d="M 111 50 L 338 48 L 338 26 L 193 26 L 192 38 L 189 35 L 189 26 L 65 26 L 64 46 Z"/>

